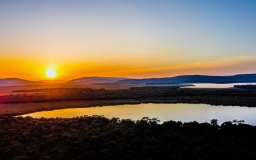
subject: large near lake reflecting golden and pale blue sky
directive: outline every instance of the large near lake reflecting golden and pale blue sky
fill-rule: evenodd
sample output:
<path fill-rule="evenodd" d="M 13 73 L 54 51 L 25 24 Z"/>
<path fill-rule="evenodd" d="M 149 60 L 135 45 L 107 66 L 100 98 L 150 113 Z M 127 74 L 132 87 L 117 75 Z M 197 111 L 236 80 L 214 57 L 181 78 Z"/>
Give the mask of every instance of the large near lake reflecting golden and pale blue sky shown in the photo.
<path fill-rule="evenodd" d="M 210 106 L 208 104 L 127 104 L 40 111 L 23 116 L 71 118 L 83 115 L 104 115 L 108 118 L 119 117 L 131 120 L 139 120 L 143 116 L 149 116 L 150 118 L 157 117 L 161 122 L 168 120 L 210 122 L 212 119 L 218 119 L 220 124 L 237 119 L 244 120 L 245 124 L 256 125 L 256 108 Z"/>

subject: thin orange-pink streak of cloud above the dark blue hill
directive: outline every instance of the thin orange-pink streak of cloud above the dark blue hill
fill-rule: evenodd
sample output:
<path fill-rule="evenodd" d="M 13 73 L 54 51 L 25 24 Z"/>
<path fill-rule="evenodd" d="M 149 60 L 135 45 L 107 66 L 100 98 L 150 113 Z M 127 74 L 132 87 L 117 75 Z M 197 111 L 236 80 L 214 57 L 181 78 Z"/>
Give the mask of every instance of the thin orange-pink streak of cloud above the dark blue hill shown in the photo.
<path fill-rule="evenodd" d="M 225 57 L 219 60 L 212 61 L 202 61 L 197 63 L 188 63 L 184 65 L 175 65 L 172 67 L 150 67 L 150 68 L 131 68 L 125 70 L 115 70 L 112 72 L 101 72 L 99 75 L 111 75 L 111 76 L 132 76 L 138 77 L 140 75 L 154 76 L 161 75 L 163 76 L 175 76 L 177 74 L 223 74 L 220 70 L 232 70 L 236 71 L 237 66 L 243 68 L 243 65 L 255 63 L 256 65 L 256 56 L 235 56 L 235 57 Z M 245 72 L 246 70 L 244 70 Z M 222 71 L 223 72 L 223 71 Z M 162 77 L 163 77 L 162 76 Z M 142 77 L 142 76 L 141 76 Z"/>

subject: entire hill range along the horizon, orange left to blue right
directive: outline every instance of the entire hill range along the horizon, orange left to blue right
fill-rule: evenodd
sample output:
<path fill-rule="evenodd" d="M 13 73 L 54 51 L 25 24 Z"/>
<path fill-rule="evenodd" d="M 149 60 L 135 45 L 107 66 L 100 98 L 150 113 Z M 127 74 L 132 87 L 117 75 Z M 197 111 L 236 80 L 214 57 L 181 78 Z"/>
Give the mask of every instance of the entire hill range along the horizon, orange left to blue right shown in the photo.
<path fill-rule="evenodd" d="M 52 84 L 51 81 L 29 81 L 19 78 L 0 79 L 0 87 L 31 86 Z M 58 81 L 59 84 L 184 84 L 184 83 L 255 83 L 256 74 L 237 74 L 234 76 L 185 75 L 163 78 L 129 79 L 125 77 L 81 77 L 71 81 Z M 55 82 L 56 83 L 56 82 Z"/>

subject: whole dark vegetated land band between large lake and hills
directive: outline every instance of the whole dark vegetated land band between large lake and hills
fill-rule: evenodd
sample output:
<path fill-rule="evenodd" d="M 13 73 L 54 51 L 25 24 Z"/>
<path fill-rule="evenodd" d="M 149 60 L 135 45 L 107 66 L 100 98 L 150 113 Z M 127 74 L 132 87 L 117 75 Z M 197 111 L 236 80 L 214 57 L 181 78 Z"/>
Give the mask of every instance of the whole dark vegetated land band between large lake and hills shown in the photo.
<path fill-rule="evenodd" d="M 196 89 L 177 88 L 175 86 L 147 86 L 116 90 L 42 88 L 19 90 L 16 92 L 19 94 L 0 96 L 0 115 L 16 116 L 53 109 L 141 103 L 256 106 L 256 90 L 244 90 L 240 88 Z"/>

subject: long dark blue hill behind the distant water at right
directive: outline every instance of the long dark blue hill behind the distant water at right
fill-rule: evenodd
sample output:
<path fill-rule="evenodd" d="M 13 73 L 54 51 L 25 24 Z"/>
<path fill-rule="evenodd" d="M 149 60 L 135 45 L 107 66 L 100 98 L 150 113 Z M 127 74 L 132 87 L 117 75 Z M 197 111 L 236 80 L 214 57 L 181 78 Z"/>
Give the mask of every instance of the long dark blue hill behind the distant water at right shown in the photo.
<path fill-rule="evenodd" d="M 238 74 L 234 76 L 187 75 L 177 77 L 124 79 L 116 81 L 122 84 L 168 84 L 168 83 L 255 83 L 256 74 Z"/>

